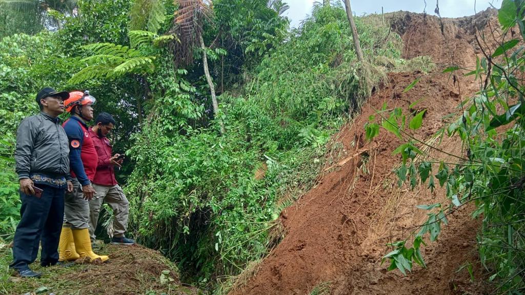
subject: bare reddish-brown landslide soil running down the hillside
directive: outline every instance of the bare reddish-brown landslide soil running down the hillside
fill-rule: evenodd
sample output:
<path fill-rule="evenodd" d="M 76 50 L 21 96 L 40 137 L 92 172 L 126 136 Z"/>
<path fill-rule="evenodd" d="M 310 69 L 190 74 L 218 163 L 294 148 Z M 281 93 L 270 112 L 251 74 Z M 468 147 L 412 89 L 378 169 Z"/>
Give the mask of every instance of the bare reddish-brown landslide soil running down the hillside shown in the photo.
<path fill-rule="evenodd" d="M 400 156 L 392 151 L 402 143 L 382 131 L 373 142 L 364 140 L 364 124 L 383 103 L 388 108 L 408 106 L 421 100 L 417 109 L 426 109 L 423 127 L 414 136 L 432 141 L 432 135 L 454 118 L 461 100 L 479 89 L 474 80 L 454 79 L 442 73 L 445 67 L 474 67 L 480 54 L 474 32 L 496 28 L 493 10 L 461 19 L 443 19 L 412 13 L 396 13 L 392 28 L 404 41 L 404 58 L 429 55 L 438 70 L 392 73 L 381 90 L 373 94 L 360 115 L 345 125 L 333 139 L 344 146 L 343 159 L 350 159 L 319 177 L 316 187 L 281 213 L 286 235 L 259 265 L 255 276 L 233 294 L 308 294 L 319 284 L 329 284 L 331 294 L 481 294 L 479 259 L 475 247 L 480 223 L 469 217 L 465 206 L 449 218 L 438 241 L 424 248 L 427 269 L 415 268 L 408 276 L 386 272 L 381 257 L 391 249 L 386 243 L 406 237 L 406 229 L 421 224 L 426 212 L 418 204 L 445 199 L 438 188 L 430 193 L 423 185 L 410 191 L 398 187 L 392 172 Z M 442 33 L 443 32 L 443 33 Z M 403 90 L 421 80 L 408 92 Z M 374 110 L 375 109 L 375 110 Z M 436 141 L 431 143 L 436 144 Z M 444 139 L 440 148 L 461 154 L 460 143 Z M 431 157 L 444 154 L 429 151 Z M 342 161 L 344 162 L 344 161 Z M 342 163 L 340 162 L 340 163 Z M 436 170 L 435 170 L 436 171 Z M 468 267 L 474 269 L 470 281 Z"/>

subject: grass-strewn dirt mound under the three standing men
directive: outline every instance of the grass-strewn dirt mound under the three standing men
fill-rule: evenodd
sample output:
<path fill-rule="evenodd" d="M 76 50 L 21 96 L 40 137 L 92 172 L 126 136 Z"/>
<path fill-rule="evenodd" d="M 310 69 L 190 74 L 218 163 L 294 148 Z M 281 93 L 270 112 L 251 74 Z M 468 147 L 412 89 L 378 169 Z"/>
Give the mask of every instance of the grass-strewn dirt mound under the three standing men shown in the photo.
<path fill-rule="evenodd" d="M 107 254 L 104 264 L 75 264 L 34 269 L 44 276 L 38 280 L 10 278 L 6 294 L 197 294 L 193 287 L 182 286 L 178 270 L 159 251 L 140 245 L 104 245 L 97 252 Z M 80 262 L 80 261 L 79 261 Z M 3 293 L 0 291 L 0 293 Z"/>

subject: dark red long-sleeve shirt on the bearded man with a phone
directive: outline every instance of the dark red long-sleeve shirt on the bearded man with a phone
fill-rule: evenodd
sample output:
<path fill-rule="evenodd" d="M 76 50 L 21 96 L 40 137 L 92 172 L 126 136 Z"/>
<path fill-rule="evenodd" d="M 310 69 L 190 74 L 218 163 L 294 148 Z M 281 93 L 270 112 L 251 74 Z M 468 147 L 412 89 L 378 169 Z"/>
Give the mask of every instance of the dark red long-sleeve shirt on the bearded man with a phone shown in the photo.
<path fill-rule="evenodd" d="M 109 142 L 106 136 L 100 136 L 93 132 L 89 128 L 89 136 L 93 140 L 95 149 L 98 154 L 98 164 L 97 164 L 97 173 L 95 173 L 95 178 L 93 183 L 100 185 L 116 185 L 117 180 L 115 179 L 115 169 L 110 163 L 111 159 L 111 143 Z"/>

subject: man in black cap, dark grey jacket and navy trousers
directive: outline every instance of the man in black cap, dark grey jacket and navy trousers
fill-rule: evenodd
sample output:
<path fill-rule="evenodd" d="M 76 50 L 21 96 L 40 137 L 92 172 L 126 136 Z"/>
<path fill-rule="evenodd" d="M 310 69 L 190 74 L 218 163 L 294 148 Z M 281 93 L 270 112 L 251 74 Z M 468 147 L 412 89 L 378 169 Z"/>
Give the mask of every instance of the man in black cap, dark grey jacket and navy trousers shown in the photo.
<path fill-rule="evenodd" d="M 20 223 L 13 241 L 10 268 L 22 277 L 40 277 L 29 269 L 38 254 L 41 266 L 58 261 L 58 241 L 64 217 L 64 195 L 72 190 L 69 142 L 58 115 L 64 112 L 66 91 L 44 88 L 36 101 L 40 113 L 20 122 L 16 134 L 16 172 L 20 182 Z"/>

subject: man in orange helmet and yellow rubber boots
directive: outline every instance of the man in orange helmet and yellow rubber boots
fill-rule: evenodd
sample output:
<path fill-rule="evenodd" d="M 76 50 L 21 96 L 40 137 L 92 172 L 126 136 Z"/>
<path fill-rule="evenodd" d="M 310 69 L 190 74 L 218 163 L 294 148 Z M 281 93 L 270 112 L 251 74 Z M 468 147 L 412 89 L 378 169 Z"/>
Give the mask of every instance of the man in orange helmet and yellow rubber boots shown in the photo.
<path fill-rule="evenodd" d="M 91 186 L 97 170 L 98 154 L 88 133 L 87 122 L 93 119 L 96 99 L 88 91 L 72 91 L 65 101 L 71 117 L 64 122 L 69 140 L 69 163 L 73 179 L 73 192 L 66 194 L 64 225 L 60 234 L 59 260 L 88 258 L 90 261 L 108 260 L 97 255 L 91 248 L 89 238 L 89 203 L 95 189 Z"/>

